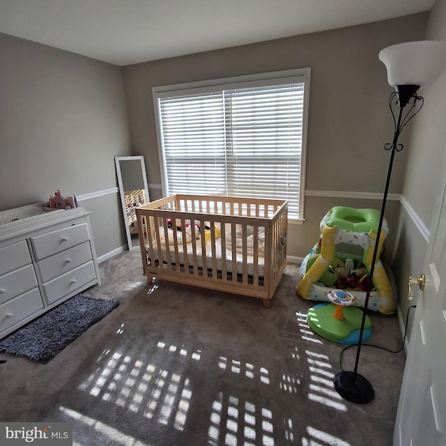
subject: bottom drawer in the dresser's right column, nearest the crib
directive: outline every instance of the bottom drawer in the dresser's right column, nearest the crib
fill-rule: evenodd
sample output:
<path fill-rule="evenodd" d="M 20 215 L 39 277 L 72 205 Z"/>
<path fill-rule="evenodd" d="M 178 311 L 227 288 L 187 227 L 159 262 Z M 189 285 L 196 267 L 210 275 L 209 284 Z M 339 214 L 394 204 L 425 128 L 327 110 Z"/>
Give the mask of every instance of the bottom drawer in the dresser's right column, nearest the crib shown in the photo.
<path fill-rule="evenodd" d="M 52 279 L 46 284 L 43 284 L 43 291 L 45 292 L 48 304 L 52 304 L 94 279 L 96 279 L 95 267 L 93 261 L 89 261 L 70 272 L 66 272 L 61 277 L 56 277 L 56 279 Z"/>

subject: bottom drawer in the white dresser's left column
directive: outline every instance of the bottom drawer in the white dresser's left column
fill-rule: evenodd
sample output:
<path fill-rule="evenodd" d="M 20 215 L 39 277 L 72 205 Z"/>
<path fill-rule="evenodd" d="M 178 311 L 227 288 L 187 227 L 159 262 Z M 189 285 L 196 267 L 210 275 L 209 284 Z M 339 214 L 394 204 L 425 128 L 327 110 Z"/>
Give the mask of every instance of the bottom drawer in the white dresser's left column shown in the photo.
<path fill-rule="evenodd" d="M 0 332 L 8 330 L 41 309 L 43 302 L 38 288 L 0 305 Z"/>

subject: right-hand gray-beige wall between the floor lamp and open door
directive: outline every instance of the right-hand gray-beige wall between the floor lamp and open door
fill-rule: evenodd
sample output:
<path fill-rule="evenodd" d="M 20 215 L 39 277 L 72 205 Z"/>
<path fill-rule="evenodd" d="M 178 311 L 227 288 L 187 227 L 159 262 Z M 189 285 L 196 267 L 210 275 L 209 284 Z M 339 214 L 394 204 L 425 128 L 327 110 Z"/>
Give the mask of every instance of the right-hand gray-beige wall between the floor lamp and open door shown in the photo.
<path fill-rule="evenodd" d="M 426 39 L 446 40 L 446 0 L 437 0 L 429 13 Z M 413 120 L 410 140 L 404 149 L 408 163 L 403 197 L 429 233 L 433 206 L 443 191 L 446 171 L 446 70 L 435 84 L 419 93 L 424 97 L 424 107 Z M 398 242 L 394 270 L 402 289 L 399 311 L 401 318 L 406 318 L 408 307 L 417 301 L 417 287 L 410 302 L 403 284 L 407 284 L 409 275 L 418 277 L 422 273 L 427 247 L 426 238 L 406 208 L 401 209 Z"/>

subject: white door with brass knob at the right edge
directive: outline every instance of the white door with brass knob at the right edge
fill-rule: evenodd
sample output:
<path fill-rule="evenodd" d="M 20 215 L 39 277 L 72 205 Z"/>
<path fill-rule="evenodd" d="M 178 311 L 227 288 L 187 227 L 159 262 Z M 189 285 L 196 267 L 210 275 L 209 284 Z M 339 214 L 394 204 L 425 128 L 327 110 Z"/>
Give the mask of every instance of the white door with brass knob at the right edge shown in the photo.
<path fill-rule="evenodd" d="M 436 209 L 423 266 L 426 286 L 418 293 L 401 385 L 394 446 L 446 445 L 446 188 Z M 404 293 L 401 298 L 406 298 Z"/>

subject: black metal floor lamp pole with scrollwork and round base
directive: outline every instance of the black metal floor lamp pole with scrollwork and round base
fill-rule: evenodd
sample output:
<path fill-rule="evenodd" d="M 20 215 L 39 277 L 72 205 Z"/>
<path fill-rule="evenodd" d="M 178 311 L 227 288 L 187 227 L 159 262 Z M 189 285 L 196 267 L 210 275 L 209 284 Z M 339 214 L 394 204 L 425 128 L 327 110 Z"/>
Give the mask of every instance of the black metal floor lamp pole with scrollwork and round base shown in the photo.
<path fill-rule="evenodd" d="M 383 229 L 383 220 L 384 220 L 384 211 L 385 204 L 387 202 L 387 193 L 389 192 L 390 185 L 390 177 L 392 176 L 392 167 L 393 161 L 395 157 L 395 153 L 403 150 L 403 144 L 398 144 L 398 138 L 401 134 L 401 131 L 406 126 L 408 121 L 415 116 L 423 106 L 423 98 L 421 96 L 417 96 L 417 90 L 420 87 L 417 85 L 400 85 L 396 87 L 396 91 L 394 91 L 389 98 L 389 107 L 390 112 L 392 112 L 393 120 L 394 120 L 394 137 L 392 144 L 385 144 L 384 148 L 386 151 L 390 152 L 390 161 L 389 167 L 387 169 L 387 179 L 385 180 L 385 189 L 383 195 L 383 203 L 381 205 L 381 213 L 380 219 L 378 223 L 378 231 L 376 233 L 376 242 L 374 247 L 374 255 L 371 261 L 370 268 L 370 277 L 371 281 L 369 286 L 367 287 L 367 293 L 364 302 L 364 309 L 362 314 L 361 328 L 360 328 L 360 337 L 357 342 L 357 351 L 356 351 L 356 359 L 355 359 L 355 368 L 353 371 L 340 371 L 336 376 L 334 376 L 334 388 L 344 399 L 351 401 L 352 403 L 369 403 L 372 399 L 374 399 L 375 391 L 374 387 L 369 383 L 369 380 L 357 373 L 357 365 L 360 360 L 360 351 L 362 346 L 362 334 L 364 333 L 364 325 L 367 315 L 367 307 L 369 305 L 369 298 L 371 290 L 373 289 L 373 277 L 375 271 L 375 263 L 378 259 L 378 247 L 381 237 L 381 230 Z M 410 99 L 413 98 L 413 105 L 408 109 L 406 115 L 403 116 L 403 110 L 406 105 L 410 102 Z M 419 103 L 419 107 L 417 107 L 417 102 Z M 398 118 L 395 119 L 394 109 L 392 105 L 398 105 L 399 113 Z"/>

